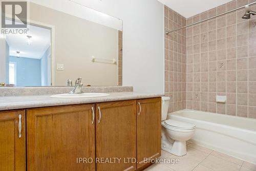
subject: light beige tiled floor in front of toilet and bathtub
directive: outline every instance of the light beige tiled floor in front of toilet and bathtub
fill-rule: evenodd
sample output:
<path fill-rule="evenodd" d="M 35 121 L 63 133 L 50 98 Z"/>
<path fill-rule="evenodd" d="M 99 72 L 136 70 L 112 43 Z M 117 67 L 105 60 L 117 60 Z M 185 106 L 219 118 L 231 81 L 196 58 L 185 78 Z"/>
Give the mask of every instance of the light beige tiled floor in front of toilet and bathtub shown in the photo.
<path fill-rule="evenodd" d="M 194 143 L 187 144 L 187 155 L 178 157 L 162 151 L 161 159 L 179 159 L 176 164 L 155 163 L 144 171 L 256 171 L 256 165 L 213 151 Z"/>

